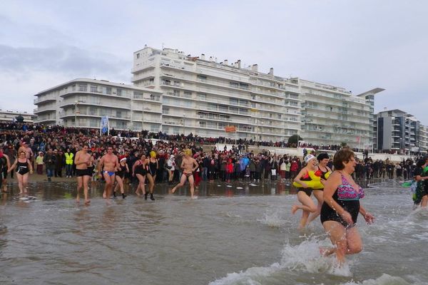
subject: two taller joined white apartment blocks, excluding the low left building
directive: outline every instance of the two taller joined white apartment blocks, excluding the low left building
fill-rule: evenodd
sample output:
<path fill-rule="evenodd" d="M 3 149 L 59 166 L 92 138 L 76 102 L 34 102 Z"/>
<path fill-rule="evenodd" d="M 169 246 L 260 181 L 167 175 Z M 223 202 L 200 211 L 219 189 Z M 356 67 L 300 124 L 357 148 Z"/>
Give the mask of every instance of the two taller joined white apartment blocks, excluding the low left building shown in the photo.
<path fill-rule="evenodd" d="M 235 135 L 265 141 L 298 134 L 316 145 L 372 147 L 374 94 L 354 96 L 343 88 L 260 73 L 240 60 L 185 56 L 145 47 L 133 55 L 133 83 L 162 90 L 166 133 Z M 232 125 L 236 133 L 228 134 Z"/>

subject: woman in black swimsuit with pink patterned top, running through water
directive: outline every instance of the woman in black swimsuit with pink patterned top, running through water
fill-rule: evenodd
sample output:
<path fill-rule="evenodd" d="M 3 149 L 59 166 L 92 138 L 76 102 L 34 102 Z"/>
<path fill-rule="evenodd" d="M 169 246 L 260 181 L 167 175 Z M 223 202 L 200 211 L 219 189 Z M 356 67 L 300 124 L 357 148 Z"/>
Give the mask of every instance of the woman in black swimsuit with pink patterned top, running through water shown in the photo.
<path fill-rule="evenodd" d="M 345 263 L 345 254 L 356 254 L 362 250 L 357 217 L 362 214 L 368 224 L 374 220 L 360 204 L 364 190 L 355 183 L 351 174 L 355 170 L 355 154 L 348 148 L 336 152 L 333 158 L 335 172 L 325 182 L 324 203 L 321 222 L 335 247 L 320 249 L 324 255 L 336 253 L 339 264 Z"/>

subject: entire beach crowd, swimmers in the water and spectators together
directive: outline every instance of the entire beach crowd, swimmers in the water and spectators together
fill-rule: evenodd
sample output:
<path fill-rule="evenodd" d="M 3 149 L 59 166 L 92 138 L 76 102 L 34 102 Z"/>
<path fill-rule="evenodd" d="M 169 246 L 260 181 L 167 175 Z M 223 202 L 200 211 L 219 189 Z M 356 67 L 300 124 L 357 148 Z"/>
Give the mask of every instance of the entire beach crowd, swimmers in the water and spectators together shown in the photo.
<path fill-rule="evenodd" d="M 16 123 L 0 124 L 0 129 L 1 175 L 4 179 L 9 173 L 13 177 L 16 170 L 20 194 L 23 195 L 33 170 L 40 175 L 46 172 L 48 181 L 64 175 L 66 178 L 76 176 L 76 200 L 79 201 L 79 190 L 83 190 L 85 204 L 90 202 L 90 180 L 105 181 L 103 197 L 106 199 L 111 193 L 116 197 L 117 189 L 121 190 L 124 199 L 123 183 L 136 181 L 136 195 L 148 199 L 150 194 L 152 200 L 155 200 L 153 187 L 159 182 L 178 182 L 171 190 L 173 193 L 188 181 L 193 198 L 194 186 L 200 180 L 292 180 L 300 203 L 292 206 L 292 214 L 302 210 L 300 227 L 320 215 L 333 245 L 320 249 L 320 252 L 323 255 L 335 253 L 340 264 L 345 262 L 346 254 L 362 250 L 356 227 L 358 215 L 361 214 L 368 224 L 374 222 L 374 216 L 360 204 L 365 193 L 355 179 L 384 178 L 385 174 L 389 179 L 394 176 L 412 178 L 417 182 L 414 203 L 422 207 L 428 204 L 428 185 L 424 181 L 428 180 L 427 157 L 417 163 L 412 160 L 373 161 L 367 155 L 359 160 L 348 147 L 330 146 L 330 150 L 337 150 L 334 157 L 325 152 L 317 154 L 311 147 L 311 151 L 303 150 L 302 162 L 300 157 L 277 155 L 263 147 L 259 153 L 249 152 L 248 145 L 254 142 L 247 140 L 235 141 L 230 149 L 212 147 L 204 151 L 204 144 L 228 140 L 198 138 L 191 133 L 185 136 L 143 131 L 141 137 L 136 137 L 132 132 L 112 130 L 111 135 L 100 136 L 96 130 Z M 317 205 L 311 198 L 312 193 Z"/>

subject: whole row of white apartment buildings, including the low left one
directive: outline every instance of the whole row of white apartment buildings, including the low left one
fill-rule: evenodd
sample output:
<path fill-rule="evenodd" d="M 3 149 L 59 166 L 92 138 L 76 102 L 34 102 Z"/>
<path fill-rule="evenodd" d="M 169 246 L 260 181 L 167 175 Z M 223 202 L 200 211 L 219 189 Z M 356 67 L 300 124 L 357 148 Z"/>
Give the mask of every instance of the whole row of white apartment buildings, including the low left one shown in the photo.
<path fill-rule="evenodd" d="M 275 76 L 258 65 L 220 63 L 176 49 L 133 53 L 133 86 L 78 78 L 36 94 L 38 123 L 163 131 L 200 137 L 371 148 L 374 94 Z"/>

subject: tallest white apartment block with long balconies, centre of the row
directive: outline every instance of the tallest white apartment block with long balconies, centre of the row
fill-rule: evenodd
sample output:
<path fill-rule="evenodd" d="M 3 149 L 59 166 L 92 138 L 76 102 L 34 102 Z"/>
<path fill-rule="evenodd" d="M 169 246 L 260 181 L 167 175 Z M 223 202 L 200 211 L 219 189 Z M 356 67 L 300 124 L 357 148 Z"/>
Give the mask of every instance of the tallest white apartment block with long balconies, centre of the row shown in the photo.
<path fill-rule="evenodd" d="M 285 140 L 300 130 L 297 81 L 216 63 L 183 52 L 145 47 L 133 58 L 133 83 L 162 90 L 162 130 L 201 137 Z M 235 133 L 226 133 L 226 127 Z"/>

